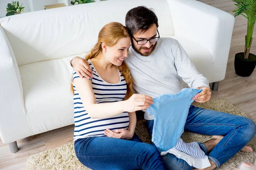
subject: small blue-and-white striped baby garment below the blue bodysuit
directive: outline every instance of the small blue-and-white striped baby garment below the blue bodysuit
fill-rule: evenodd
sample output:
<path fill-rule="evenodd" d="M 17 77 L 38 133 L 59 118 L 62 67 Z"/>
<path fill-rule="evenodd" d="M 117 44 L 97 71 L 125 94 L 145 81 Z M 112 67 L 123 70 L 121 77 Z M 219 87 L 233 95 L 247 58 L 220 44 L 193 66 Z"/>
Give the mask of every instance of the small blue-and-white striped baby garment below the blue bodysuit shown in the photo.
<path fill-rule="evenodd" d="M 181 152 L 184 152 L 188 155 L 195 156 L 196 158 L 204 158 L 205 153 L 201 150 L 197 142 L 185 143 L 181 138 L 174 147 Z"/>

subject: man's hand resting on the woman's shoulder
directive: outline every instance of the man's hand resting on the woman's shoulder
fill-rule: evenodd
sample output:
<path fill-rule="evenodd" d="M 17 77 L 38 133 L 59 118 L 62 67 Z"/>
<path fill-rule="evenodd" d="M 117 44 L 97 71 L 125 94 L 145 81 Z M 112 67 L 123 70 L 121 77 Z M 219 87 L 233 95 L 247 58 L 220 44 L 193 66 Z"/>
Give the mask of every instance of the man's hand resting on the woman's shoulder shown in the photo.
<path fill-rule="evenodd" d="M 93 71 L 90 69 L 89 63 L 86 60 L 80 57 L 74 57 L 70 63 L 80 78 L 93 78 Z"/>

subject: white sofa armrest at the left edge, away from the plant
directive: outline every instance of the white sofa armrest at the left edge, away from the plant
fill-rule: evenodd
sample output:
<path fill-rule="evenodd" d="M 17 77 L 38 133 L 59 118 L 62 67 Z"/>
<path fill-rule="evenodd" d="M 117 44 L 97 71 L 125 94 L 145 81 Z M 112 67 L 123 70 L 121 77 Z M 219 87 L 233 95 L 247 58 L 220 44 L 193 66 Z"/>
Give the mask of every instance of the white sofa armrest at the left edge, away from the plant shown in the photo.
<path fill-rule="evenodd" d="M 0 137 L 11 143 L 31 136 L 19 68 L 12 47 L 0 26 Z"/>

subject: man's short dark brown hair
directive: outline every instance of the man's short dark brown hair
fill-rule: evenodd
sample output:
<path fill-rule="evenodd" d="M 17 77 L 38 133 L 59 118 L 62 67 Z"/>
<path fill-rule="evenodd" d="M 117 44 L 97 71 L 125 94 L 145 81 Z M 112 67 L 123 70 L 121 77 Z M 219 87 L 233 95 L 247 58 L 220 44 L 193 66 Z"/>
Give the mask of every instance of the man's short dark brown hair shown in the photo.
<path fill-rule="evenodd" d="M 147 31 L 156 24 L 158 28 L 158 19 L 156 14 L 145 6 L 138 6 L 129 10 L 125 17 L 125 25 L 131 35 L 140 30 L 140 33 Z"/>

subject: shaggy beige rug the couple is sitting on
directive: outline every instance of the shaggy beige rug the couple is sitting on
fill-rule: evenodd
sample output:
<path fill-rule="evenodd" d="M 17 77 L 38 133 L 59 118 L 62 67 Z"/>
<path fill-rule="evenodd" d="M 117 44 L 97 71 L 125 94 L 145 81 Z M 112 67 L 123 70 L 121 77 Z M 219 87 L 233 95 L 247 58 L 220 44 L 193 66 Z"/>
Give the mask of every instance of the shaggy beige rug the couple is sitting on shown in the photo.
<path fill-rule="evenodd" d="M 203 104 L 195 103 L 194 105 L 201 108 L 248 117 L 246 113 L 240 111 L 225 99 L 217 98 Z M 145 120 L 139 120 L 137 122 L 136 133 L 143 142 L 151 143 L 150 135 L 146 130 Z M 211 136 L 185 132 L 181 138 L 185 142 L 205 142 L 211 139 Z M 256 150 L 256 136 L 254 136 L 248 145 L 251 146 L 253 150 Z M 240 151 L 223 164 L 219 170 L 234 170 L 240 162 L 247 161 L 253 163 L 255 159 L 255 151 L 252 153 L 244 153 Z M 27 159 L 27 164 L 28 170 L 89 170 L 76 158 L 73 142 L 32 155 Z"/>

